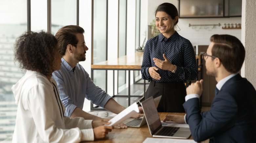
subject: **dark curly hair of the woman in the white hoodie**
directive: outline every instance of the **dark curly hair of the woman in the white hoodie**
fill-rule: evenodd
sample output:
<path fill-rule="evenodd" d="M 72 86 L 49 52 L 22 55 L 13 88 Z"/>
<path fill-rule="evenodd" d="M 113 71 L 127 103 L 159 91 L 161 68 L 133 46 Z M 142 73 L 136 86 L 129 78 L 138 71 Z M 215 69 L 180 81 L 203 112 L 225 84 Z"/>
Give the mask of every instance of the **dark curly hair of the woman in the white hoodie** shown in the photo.
<path fill-rule="evenodd" d="M 50 33 L 28 31 L 16 39 L 14 61 L 19 62 L 21 70 L 52 76 L 57 43 L 57 39 Z"/>

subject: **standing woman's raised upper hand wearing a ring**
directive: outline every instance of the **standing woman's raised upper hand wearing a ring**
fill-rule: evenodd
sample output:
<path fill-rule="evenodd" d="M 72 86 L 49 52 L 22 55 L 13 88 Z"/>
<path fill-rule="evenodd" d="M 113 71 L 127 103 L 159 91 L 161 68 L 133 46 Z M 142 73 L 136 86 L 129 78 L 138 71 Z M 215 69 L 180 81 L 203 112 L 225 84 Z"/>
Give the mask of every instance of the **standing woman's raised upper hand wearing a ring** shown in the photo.
<path fill-rule="evenodd" d="M 164 61 L 154 57 L 153 60 L 155 62 L 155 65 L 162 70 L 173 71 L 175 69 L 175 66 L 167 59 L 167 57 L 164 54 L 163 58 Z"/>

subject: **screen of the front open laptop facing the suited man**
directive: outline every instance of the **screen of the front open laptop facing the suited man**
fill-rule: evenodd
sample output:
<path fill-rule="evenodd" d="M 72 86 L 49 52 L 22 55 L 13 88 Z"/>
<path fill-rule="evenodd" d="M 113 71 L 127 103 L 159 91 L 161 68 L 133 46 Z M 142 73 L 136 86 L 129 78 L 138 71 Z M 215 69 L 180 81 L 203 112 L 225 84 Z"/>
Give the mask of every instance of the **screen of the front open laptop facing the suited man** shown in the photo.
<path fill-rule="evenodd" d="M 150 128 L 151 135 L 153 135 L 162 127 L 153 97 L 143 101 L 142 107 Z"/>

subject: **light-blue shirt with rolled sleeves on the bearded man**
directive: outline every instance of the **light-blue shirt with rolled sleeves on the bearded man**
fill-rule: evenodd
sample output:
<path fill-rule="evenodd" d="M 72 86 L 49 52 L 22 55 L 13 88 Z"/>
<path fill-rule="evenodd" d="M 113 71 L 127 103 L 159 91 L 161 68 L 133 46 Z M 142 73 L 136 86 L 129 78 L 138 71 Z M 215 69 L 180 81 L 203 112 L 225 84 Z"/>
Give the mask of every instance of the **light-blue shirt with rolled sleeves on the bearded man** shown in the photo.
<path fill-rule="evenodd" d="M 93 83 L 80 64 L 77 63 L 73 71 L 64 58 L 61 58 L 60 70 L 53 72 L 53 78 L 58 85 L 60 99 L 66 107 L 65 116 L 70 117 L 76 107 L 83 109 L 84 98 L 103 108 L 112 98 Z"/>

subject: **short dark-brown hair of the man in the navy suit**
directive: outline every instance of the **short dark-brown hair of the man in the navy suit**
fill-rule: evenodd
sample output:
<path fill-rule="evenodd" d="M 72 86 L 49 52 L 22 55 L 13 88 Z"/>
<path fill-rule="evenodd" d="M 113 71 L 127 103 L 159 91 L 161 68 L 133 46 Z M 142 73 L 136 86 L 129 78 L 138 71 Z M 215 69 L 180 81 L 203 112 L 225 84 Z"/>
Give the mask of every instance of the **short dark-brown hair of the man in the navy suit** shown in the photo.
<path fill-rule="evenodd" d="M 231 35 L 213 35 L 212 56 L 218 57 L 224 68 L 231 73 L 237 73 L 245 60 L 245 47 L 239 39 Z"/>

